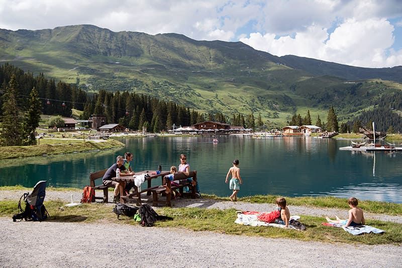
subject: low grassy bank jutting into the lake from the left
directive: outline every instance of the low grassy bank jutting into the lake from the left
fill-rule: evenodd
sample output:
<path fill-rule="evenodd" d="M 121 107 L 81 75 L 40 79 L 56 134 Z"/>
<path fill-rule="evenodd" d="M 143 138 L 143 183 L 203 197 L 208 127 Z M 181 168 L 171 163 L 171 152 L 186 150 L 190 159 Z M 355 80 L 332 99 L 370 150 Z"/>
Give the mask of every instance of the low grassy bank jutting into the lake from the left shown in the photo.
<path fill-rule="evenodd" d="M 42 141 L 43 139 L 41 139 Z M 106 150 L 116 147 L 124 147 L 124 143 L 109 139 L 102 142 L 83 141 L 83 140 L 63 140 L 63 139 L 45 139 L 50 140 L 49 144 L 31 145 L 31 146 L 5 146 L 0 147 L 0 159 L 41 156 L 49 154 L 85 152 L 93 150 Z M 47 142 L 43 142 L 47 143 Z"/>

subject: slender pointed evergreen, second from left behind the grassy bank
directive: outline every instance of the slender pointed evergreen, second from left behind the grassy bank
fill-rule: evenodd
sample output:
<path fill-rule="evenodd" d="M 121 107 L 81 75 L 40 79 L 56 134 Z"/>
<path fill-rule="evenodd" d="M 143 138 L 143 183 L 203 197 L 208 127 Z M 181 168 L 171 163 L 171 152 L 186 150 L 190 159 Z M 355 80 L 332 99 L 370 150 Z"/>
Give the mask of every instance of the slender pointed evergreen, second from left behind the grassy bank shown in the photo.
<path fill-rule="evenodd" d="M 29 107 L 25 116 L 24 131 L 28 136 L 26 142 L 27 145 L 35 145 L 35 130 L 39 127 L 39 121 L 41 119 L 41 101 L 39 100 L 39 93 L 36 88 L 32 88 L 29 95 Z"/>

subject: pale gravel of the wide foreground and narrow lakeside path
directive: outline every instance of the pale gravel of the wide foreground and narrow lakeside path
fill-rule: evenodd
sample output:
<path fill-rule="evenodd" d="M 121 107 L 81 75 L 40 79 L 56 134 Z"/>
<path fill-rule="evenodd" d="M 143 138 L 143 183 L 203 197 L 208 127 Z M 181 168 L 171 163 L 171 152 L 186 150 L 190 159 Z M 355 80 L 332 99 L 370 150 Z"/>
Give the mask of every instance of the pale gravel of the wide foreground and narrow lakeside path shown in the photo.
<path fill-rule="evenodd" d="M 71 194 L 73 202 L 79 202 L 80 192 L 47 191 L 46 199 L 69 203 Z M 0 191 L 0 200 L 17 200 L 21 195 L 22 191 Z M 183 199 L 174 207 L 269 211 L 274 206 Z M 289 209 L 291 214 L 346 217 L 337 209 Z M 398 216 L 366 213 L 366 218 L 402 223 Z M 0 224 L 2 267 L 402 267 L 402 247 L 395 245 L 305 242 L 111 223 L 14 223 L 9 217 L 0 217 Z M 114 234 L 125 234 L 124 239 Z"/>

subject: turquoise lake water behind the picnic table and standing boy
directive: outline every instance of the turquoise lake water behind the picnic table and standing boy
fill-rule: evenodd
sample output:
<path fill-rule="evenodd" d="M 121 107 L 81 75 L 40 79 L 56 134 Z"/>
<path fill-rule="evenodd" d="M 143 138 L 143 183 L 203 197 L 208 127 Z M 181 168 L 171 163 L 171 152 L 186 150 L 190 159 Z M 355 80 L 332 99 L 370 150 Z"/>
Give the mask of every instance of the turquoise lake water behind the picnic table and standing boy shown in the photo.
<path fill-rule="evenodd" d="M 156 170 L 159 164 L 168 170 L 185 153 L 190 169 L 197 170 L 202 193 L 229 196 L 225 177 L 238 158 L 244 181 L 239 196 L 355 196 L 402 203 L 402 152 L 340 151 L 350 141 L 311 137 L 219 137 L 217 144 L 211 137 L 121 141 L 123 149 L 0 160 L 0 186 L 33 187 L 46 180 L 54 187 L 83 188 L 89 172 L 109 167 L 125 151 L 134 153 L 135 171 Z"/>

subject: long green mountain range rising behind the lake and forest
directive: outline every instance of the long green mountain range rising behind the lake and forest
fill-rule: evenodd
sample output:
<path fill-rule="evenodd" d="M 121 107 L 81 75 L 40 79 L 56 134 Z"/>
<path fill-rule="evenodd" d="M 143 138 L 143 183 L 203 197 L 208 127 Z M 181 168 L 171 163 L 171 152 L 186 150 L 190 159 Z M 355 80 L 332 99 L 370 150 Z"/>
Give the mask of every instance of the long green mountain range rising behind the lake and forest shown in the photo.
<path fill-rule="evenodd" d="M 241 42 L 196 41 L 179 34 L 112 32 L 91 25 L 53 30 L 0 29 L 0 62 L 77 83 L 88 92 L 135 91 L 200 112 L 261 114 L 282 126 L 310 110 L 340 121 L 400 91 L 402 67 L 359 68 L 277 57 Z M 374 103 L 373 103 L 374 102 Z"/>

